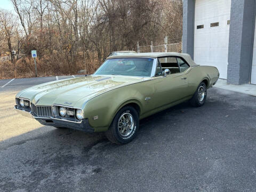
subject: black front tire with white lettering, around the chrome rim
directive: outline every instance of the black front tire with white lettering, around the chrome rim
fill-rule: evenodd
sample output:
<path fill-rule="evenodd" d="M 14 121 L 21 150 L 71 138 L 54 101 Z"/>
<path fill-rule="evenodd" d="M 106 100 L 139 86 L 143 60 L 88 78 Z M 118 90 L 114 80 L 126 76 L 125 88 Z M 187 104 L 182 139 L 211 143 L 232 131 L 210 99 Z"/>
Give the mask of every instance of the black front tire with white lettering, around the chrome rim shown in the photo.
<path fill-rule="evenodd" d="M 129 114 L 132 115 L 133 128 L 127 130 L 127 133 L 131 132 L 130 134 L 122 135 L 122 133 L 120 133 L 118 128 L 118 120 L 122 116 L 129 115 Z M 113 122 L 111 123 L 108 131 L 105 134 L 109 141 L 113 143 L 117 143 L 118 145 L 122 145 L 122 144 L 131 142 L 136 137 L 138 130 L 139 130 L 139 115 L 133 107 L 126 106 L 117 112 L 115 118 L 113 119 Z"/>

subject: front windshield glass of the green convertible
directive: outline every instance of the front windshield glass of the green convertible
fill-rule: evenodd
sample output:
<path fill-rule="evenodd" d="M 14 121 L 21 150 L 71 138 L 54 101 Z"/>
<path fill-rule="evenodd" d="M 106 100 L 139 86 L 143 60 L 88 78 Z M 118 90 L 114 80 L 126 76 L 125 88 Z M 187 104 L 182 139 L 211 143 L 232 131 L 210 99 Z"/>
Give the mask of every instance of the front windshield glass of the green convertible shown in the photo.
<path fill-rule="evenodd" d="M 106 60 L 94 75 L 127 75 L 150 77 L 154 59 L 115 58 Z"/>

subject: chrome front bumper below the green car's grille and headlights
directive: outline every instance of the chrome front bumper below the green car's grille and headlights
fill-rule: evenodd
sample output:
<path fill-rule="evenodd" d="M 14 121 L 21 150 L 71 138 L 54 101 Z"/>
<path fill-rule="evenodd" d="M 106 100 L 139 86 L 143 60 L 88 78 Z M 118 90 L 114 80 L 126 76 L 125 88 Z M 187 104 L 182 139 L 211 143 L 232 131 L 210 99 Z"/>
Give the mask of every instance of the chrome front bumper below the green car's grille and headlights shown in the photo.
<path fill-rule="evenodd" d="M 54 127 L 67 127 L 70 129 L 80 130 L 89 133 L 94 132 L 94 129 L 90 126 L 89 120 L 87 118 L 79 122 L 73 122 L 66 119 L 58 119 L 54 117 L 37 117 L 33 115 L 33 112 L 19 109 L 18 106 L 14 106 L 14 109 L 15 111 L 17 111 L 17 113 L 25 117 L 36 119 L 42 125 Z"/>

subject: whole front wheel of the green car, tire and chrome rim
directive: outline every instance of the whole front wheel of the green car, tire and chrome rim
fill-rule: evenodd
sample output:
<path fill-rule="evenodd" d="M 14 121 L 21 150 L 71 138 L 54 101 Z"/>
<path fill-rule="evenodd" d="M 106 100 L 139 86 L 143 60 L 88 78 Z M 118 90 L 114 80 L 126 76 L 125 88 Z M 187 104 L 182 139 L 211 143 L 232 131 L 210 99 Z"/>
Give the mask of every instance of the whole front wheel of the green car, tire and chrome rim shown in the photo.
<path fill-rule="evenodd" d="M 139 129 L 139 115 L 130 106 L 123 107 L 118 111 L 111 123 L 106 137 L 113 143 L 119 145 L 132 141 Z"/>

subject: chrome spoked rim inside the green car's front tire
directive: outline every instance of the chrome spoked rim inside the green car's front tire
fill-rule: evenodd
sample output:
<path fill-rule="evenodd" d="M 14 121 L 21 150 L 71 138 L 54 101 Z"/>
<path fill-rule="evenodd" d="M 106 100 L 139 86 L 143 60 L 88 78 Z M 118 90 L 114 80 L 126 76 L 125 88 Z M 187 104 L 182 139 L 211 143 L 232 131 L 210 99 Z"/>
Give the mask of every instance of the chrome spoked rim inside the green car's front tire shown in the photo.
<path fill-rule="evenodd" d="M 118 119 L 118 131 L 122 137 L 127 137 L 134 129 L 133 116 L 130 113 L 123 113 Z"/>

